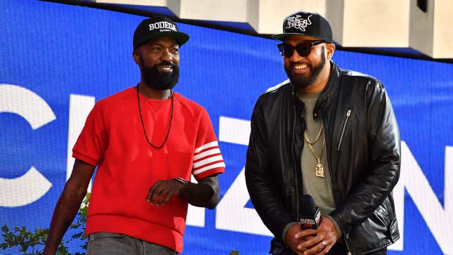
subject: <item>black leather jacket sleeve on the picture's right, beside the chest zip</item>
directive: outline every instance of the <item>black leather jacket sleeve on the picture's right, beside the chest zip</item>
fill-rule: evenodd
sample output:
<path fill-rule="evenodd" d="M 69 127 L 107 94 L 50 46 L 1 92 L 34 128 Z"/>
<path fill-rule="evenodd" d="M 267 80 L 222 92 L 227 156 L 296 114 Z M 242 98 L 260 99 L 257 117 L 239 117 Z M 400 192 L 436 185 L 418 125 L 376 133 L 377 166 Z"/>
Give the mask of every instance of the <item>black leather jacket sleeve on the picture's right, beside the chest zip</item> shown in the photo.
<path fill-rule="evenodd" d="M 365 221 L 390 195 L 400 177 L 400 132 L 383 85 L 372 81 L 367 91 L 369 164 L 343 206 L 331 213 L 344 234 Z"/>

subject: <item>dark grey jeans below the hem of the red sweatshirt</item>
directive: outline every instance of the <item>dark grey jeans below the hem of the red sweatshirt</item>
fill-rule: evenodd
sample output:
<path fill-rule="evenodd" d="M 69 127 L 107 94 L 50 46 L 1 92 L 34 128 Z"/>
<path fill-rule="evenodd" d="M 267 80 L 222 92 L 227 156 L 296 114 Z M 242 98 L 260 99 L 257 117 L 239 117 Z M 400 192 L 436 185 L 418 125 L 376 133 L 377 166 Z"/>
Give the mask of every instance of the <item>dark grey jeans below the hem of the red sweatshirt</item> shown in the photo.
<path fill-rule="evenodd" d="M 176 251 L 129 235 L 93 233 L 88 237 L 86 255 L 174 255 Z"/>

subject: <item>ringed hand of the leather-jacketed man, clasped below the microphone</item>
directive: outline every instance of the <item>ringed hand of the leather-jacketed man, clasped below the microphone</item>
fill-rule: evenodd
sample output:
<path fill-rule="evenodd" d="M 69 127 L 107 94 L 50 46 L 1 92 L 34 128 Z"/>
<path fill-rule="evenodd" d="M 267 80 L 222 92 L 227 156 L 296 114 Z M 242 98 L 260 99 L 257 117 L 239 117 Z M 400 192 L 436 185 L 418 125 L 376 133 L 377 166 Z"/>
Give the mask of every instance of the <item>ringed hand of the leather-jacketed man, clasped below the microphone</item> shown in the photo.
<path fill-rule="evenodd" d="M 296 234 L 296 238 L 310 237 L 298 245 L 303 255 L 324 255 L 329 252 L 335 242 L 339 240 L 334 223 L 327 217 L 321 216 L 322 221 L 317 229 L 303 230 Z"/>

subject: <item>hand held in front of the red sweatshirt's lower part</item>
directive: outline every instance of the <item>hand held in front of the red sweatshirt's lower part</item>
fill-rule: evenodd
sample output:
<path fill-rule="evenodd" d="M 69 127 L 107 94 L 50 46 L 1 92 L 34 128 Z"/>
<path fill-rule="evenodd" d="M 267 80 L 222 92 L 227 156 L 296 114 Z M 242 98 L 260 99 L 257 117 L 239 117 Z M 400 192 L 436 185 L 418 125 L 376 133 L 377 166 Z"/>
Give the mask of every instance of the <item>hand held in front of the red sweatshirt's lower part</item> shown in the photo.
<path fill-rule="evenodd" d="M 156 181 L 148 191 L 146 201 L 151 205 L 165 205 L 171 197 L 178 195 L 182 188 L 183 185 L 175 179 Z"/>

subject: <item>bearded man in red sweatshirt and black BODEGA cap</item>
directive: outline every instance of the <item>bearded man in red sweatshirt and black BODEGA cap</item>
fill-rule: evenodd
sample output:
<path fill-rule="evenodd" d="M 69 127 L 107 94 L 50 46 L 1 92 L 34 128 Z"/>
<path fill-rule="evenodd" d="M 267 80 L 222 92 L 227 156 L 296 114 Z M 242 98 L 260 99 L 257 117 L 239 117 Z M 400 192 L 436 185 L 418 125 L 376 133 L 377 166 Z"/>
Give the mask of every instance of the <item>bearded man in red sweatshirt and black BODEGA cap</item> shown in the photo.
<path fill-rule="evenodd" d="M 173 91 L 188 39 L 169 18 L 140 22 L 133 35 L 140 82 L 98 101 L 88 115 L 44 254 L 55 254 L 96 167 L 87 254 L 181 253 L 188 204 L 216 207 L 225 164 L 211 120 Z"/>

